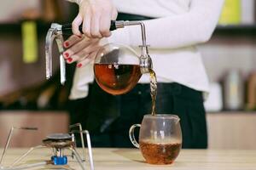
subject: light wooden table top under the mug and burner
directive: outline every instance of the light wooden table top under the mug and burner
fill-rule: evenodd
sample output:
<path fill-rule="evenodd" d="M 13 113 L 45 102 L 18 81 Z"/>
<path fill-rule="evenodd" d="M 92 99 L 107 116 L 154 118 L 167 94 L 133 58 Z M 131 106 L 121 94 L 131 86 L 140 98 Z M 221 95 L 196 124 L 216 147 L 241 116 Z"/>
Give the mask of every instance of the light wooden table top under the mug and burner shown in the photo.
<path fill-rule="evenodd" d="M 9 149 L 4 164 L 8 165 L 13 162 L 25 151 L 26 149 Z M 256 170 L 256 150 L 182 150 L 177 160 L 167 166 L 154 166 L 145 163 L 137 149 L 97 148 L 93 149 L 93 154 L 96 170 Z M 44 161 L 50 156 L 49 149 L 35 150 L 24 162 Z M 69 158 L 69 165 L 72 169 L 80 169 L 79 164 L 71 158 Z M 89 167 L 89 163 L 87 166 Z"/>

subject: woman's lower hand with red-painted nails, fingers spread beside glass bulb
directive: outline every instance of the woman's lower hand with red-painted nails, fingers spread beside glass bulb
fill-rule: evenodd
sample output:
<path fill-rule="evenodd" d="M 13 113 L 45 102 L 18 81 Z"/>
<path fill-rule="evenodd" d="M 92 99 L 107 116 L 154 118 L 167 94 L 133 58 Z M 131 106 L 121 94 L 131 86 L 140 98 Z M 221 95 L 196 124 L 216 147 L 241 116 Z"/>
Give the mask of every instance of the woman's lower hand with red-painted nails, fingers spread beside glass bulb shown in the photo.
<path fill-rule="evenodd" d="M 96 56 L 100 45 L 100 38 L 79 37 L 73 35 L 64 42 L 67 50 L 63 53 L 68 64 L 77 62 L 77 67 L 89 64 Z"/>

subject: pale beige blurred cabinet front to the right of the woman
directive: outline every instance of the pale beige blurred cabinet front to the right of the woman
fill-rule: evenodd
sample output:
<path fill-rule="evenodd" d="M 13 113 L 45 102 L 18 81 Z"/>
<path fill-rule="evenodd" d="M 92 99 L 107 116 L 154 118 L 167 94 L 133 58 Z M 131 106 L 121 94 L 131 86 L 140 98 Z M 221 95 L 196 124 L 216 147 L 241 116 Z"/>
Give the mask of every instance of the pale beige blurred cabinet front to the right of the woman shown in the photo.
<path fill-rule="evenodd" d="M 256 149 L 256 113 L 207 114 L 209 149 Z"/>

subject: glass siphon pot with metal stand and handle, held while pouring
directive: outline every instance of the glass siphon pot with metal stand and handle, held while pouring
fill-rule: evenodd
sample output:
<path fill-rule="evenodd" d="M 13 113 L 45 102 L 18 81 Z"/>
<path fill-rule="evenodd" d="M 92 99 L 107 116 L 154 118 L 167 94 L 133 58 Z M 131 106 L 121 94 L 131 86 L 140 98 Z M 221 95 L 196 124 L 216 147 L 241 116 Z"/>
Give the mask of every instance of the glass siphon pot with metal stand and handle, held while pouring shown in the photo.
<path fill-rule="evenodd" d="M 142 31 L 143 44 L 141 54 L 138 56 L 135 51 L 118 43 L 104 45 L 96 54 L 94 61 L 94 73 L 98 85 L 109 94 L 125 94 L 129 92 L 139 81 L 144 73 L 152 70 L 152 60 L 148 54 L 146 43 L 145 26 L 142 21 L 111 21 L 110 31 L 124 28 L 125 26 L 140 26 Z M 82 27 L 79 27 L 82 32 Z M 71 24 L 59 25 L 53 23 L 49 28 L 45 44 L 46 78 L 52 77 L 52 43 L 57 42 L 60 57 L 61 84 L 66 81 L 65 60 L 62 56 L 64 51 L 62 35 L 72 35 Z"/>

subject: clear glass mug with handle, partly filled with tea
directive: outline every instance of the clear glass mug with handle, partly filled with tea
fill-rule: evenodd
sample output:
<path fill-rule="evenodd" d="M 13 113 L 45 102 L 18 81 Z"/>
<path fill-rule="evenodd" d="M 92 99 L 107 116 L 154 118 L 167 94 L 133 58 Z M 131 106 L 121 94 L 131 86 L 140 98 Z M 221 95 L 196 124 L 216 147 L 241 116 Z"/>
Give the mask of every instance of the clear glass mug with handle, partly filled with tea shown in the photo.
<path fill-rule="evenodd" d="M 145 115 L 142 124 L 132 125 L 131 143 L 139 148 L 150 164 L 171 164 L 182 147 L 182 133 L 176 115 Z M 139 144 L 134 137 L 135 127 L 140 127 Z"/>

